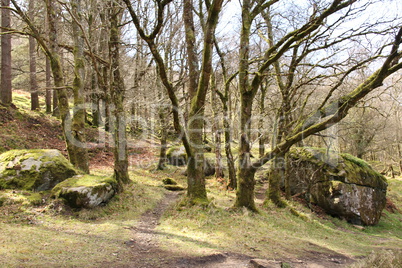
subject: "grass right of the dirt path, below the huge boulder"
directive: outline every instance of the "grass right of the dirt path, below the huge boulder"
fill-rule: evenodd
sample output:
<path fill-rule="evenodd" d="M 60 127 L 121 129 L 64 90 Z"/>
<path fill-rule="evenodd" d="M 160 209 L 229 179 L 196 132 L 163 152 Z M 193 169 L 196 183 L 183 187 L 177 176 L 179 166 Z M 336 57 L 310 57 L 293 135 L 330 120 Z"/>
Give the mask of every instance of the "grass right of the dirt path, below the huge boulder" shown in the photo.
<path fill-rule="evenodd" d="M 306 217 L 296 217 L 289 209 L 260 207 L 259 214 L 232 211 L 234 199 L 217 187 L 209 187 L 213 204 L 171 210 L 158 227 L 161 243 L 178 253 L 205 254 L 229 251 L 258 258 L 300 258 L 312 252 L 337 252 L 362 257 L 373 250 L 402 248 L 402 215 L 385 212 L 377 226 L 360 230 L 337 218 L 318 218 L 299 204 L 291 205 Z M 390 180 L 390 192 L 402 193 L 402 181 Z M 392 196 L 392 194 L 391 194 Z M 393 197 L 395 198 L 395 196 Z M 401 199 L 397 205 L 402 206 Z"/>

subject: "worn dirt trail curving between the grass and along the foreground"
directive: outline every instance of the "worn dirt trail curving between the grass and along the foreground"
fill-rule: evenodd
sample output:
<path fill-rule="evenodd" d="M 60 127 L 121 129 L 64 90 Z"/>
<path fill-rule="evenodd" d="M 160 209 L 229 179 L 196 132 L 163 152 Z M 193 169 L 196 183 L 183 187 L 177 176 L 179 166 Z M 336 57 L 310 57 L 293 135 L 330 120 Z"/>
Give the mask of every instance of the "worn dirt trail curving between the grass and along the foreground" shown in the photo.
<path fill-rule="evenodd" d="M 261 195 L 262 196 L 262 195 Z M 260 197 L 261 197 L 260 196 Z M 200 257 L 188 256 L 180 253 L 172 253 L 164 250 L 159 245 L 159 237 L 166 233 L 156 230 L 163 214 L 179 198 L 178 192 L 167 192 L 154 209 L 145 212 L 137 225 L 132 228 L 133 238 L 125 244 L 131 247 L 130 267 L 135 268 L 246 268 L 246 267 L 293 267 L 293 268 L 327 268 L 345 267 L 354 260 L 337 252 L 322 253 L 308 252 L 308 256 L 302 259 L 261 260 L 251 256 L 236 253 L 217 252 Z M 328 249 L 325 250 L 328 252 Z M 289 266 L 286 266 L 289 265 Z M 284 266 L 285 265 L 285 266 Z"/>

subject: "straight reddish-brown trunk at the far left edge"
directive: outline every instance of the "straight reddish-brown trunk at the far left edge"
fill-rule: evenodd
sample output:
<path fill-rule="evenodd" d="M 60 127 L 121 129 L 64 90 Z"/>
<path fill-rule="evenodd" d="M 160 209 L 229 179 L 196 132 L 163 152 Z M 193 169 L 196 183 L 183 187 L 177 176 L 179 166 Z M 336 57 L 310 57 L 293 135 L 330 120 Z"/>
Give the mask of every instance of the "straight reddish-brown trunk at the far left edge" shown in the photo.
<path fill-rule="evenodd" d="M 1 9 L 1 32 L 5 33 L 11 28 L 10 0 L 2 0 L 1 5 L 6 7 Z M 2 34 L 0 102 L 6 106 L 12 103 L 11 81 L 11 34 Z"/>

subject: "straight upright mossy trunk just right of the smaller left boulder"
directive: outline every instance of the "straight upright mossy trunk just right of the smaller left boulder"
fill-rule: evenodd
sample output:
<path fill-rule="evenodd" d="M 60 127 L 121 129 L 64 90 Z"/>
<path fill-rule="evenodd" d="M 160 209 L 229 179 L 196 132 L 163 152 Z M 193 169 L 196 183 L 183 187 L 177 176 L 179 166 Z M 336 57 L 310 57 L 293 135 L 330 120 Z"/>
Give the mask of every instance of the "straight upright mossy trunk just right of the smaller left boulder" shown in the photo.
<path fill-rule="evenodd" d="M 123 9 L 116 1 L 110 1 L 110 39 L 109 58 L 111 68 L 110 95 L 114 105 L 113 136 L 114 136 L 114 176 L 119 183 L 119 190 L 130 182 L 128 175 L 128 153 L 126 137 L 126 115 L 124 112 L 125 87 L 120 73 L 120 25 Z"/>

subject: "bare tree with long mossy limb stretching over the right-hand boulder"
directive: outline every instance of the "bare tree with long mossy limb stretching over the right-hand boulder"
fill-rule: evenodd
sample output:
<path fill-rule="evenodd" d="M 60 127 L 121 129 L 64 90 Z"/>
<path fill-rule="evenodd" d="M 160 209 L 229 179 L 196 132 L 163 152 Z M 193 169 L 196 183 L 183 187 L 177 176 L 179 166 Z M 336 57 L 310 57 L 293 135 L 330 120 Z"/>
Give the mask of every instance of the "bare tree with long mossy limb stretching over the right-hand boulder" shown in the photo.
<path fill-rule="evenodd" d="M 351 107 L 356 105 L 356 103 L 365 97 L 368 93 L 373 91 L 375 88 L 381 86 L 385 78 L 395 73 L 397 70 L 402 68 L 402 64 L 398 62 L 400 52 L 398 52 L 402 30 L 399 30 L 390 48 L 391 52 L 384 57 L 384 62 L 382 66 L 373 74 L 367 78 L 362 84 L 356 88 L 348 91 L 347 93 L 341 94 L 338 98 L 331 98 L 333 92 L 339 87 L 334 85 L 329 93 L 324 96 L 321 104 L 318 108 L 312 109 L 311 113 L 307 116 L 298 118 L 294 125 L 294 128 L 289 131 L 286 137 L 283 137 L 282 141 L 274 146 L 269 152 L 256 160 L 251 161 L 250 159 L 250 129 L 251 129 L 251 115 L 254 96 L 257 93 L 259 86 L 261 85 L 267 70 L 274 66 L 285 53 L 289 53 L 297 47 L 297 44 L 302 40 L 314 40 L 314 34 L 316 31 L 326 31 L 323 28 L 327 18 L 332 17 L 333 14 L 340 13 L 345 10 L 346 14 L 340 16 L 339 20 L 343 21 L 345 16 L 347 17 L 350 13 L 361 12 L 362 10 L 357 8 L 353 9 L 352 5 L 356 1 L 339 1 L 335 0 L 329 4 L 323 3 L 323 6 L 319 9 L 313 10 L 313 14 L 307 18 L 307 22 L 302 24 L 277 39 L 277 42 L 266 49 L 263 55 L 263 61 L 254 66 L 254 72 L 250 70 L 250 59 L 249 59 L 249 37 L 250 29 L 253 19 L 261 13 L 263 9 L 268 6 L 272 6 L 278 1 L 243 1 L 242 5 L 242 33 L 241 33 L 241 48 L 240 48 L 240 68 L 239 68 L 239 81 L 240 81 L 240 93 L 241 93 L 241 140 L 240 140 L 240 151 L 239 151 L 239 188 L 237 191 L 237 198 L 235 206 L 242 207 L 245 206 L 251 210 L 255 210 L 254 204 L 254 174 L 258 168 L 270 161 L 275 157 L 284 157 L 289 148 L 296 144 L 297 142 L 318 133 L 330 126 L 338 123 L 342 120 Z M 262 8 L 264 7 L 264 8 Z M 338 20 L 336 20 L 338 22 Z M 299 24 L 300 25 L 300 24 Z M 333 27 L 337 27 L 337 23 L 329 24 Z M 367 29 L 368 32 L 371 29 Z M 313 38 L 313 39 L 310 39 Z M 342 37 L 340 37 L 342 39 Z M 350 39 L 348 39 L 350 40 Z M 390 47 L 388 45 L 388 47 Z M 374 61 L 377 57 L 372 57 L 370 61 Z M 361 64 L 361 62 L 356 65 Z M 351 67 L 350 72 L 345 71 L 343 75 L 340 76 L 339 82 L 342 82 L 342 77 L 347 76 L 353 71 Z M 251 75 L 252 73 L 252 75 Z M 332 99 L 332 101 L 331 101 Z M 286 125 L 286 123 L 285 123 Z M 277 198 L 279 187 L 274 186 L 274 192 L 272 196 Z M 278 200 L 274 200 L 275 203 Z"/>

